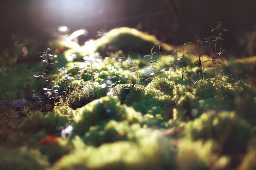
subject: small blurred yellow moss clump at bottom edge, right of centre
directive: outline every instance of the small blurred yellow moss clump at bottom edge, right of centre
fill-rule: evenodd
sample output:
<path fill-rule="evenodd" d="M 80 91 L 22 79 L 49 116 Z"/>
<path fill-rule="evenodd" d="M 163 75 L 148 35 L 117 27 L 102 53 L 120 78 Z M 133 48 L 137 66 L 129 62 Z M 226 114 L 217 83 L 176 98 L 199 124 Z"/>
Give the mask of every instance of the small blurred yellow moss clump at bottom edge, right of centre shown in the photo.
<path fill-rule="evenodd" d="M 230 166 L 230 157 L 220 157 L 220 146 L 214 139 L 191 141 L 181 139 L 179 141 L 177 164 L 182 170 L 225 170 Z M 223 161 L 223 162 L 220 162 Z"/>

